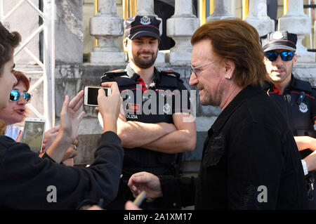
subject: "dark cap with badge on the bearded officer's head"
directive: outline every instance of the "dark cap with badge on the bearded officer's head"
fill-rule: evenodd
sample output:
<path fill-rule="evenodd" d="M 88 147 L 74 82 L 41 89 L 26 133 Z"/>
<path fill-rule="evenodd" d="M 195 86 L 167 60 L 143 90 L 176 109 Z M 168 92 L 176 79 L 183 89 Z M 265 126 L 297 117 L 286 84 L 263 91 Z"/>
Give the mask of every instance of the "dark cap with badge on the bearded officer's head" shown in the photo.
<path fill-rule="evenodd" d="M 129 39 L 137 39 L 139 37 L 154 37 L 160 40 L 159 25 L 160 20 L 154 15 L 135 15 L 124 21 L 124 35 Z"/>

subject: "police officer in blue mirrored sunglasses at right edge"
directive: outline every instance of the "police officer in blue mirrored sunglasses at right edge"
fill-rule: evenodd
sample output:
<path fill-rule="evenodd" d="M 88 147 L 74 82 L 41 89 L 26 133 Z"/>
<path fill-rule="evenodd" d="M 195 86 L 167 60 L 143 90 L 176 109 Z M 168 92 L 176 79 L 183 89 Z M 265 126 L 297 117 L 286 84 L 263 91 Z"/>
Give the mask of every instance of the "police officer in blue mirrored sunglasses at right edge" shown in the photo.
<path fill-rule="evenodd" d="M 293 132 L 308 187 L 309 209 L 316 209 L 315 172 L 308 172 L 308 165 L 313 162 L 309 158 L 316 150 L 316 90 L 308 81 L 297 79 L 292 74 L 297 57 L 296 41 L 296 34 L 287 31 L 270 32 L 261 37 L 265 67 L 272 79 L 272 85 L 266 90 L 279 105 Z"/>

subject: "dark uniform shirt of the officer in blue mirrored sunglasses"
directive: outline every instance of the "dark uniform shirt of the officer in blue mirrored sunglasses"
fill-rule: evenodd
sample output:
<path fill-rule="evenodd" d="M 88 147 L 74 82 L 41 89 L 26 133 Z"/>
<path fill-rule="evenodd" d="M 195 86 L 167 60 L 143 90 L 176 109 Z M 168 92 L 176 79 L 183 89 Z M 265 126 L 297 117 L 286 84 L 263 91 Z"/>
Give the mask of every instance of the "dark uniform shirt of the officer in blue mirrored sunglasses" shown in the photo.
<path fill-rule="evenodd" d="M 316 89 L 314 86 L 311 86 L 308 81 L 294 78 L 292 74 L 291 82 L 285 88 L 283 95 L 275 85 L 270 86 L 268 94 L 282 110 L 294 136 L 316 137 L 314 129 Z M 310 150 L 303 150 L 302 159 L 310 152 Z"/>

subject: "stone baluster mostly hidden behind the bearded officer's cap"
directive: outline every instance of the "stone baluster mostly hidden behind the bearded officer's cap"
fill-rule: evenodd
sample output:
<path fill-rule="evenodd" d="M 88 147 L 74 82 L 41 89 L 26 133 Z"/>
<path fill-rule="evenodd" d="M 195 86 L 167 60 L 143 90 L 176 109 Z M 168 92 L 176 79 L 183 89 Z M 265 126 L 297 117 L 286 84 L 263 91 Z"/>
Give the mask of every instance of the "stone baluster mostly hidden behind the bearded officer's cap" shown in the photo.
<path fill-rule="evenodd" d="M 154 0 L 137 0 L 137 11 L 136 15 L 154 15 L 157 20 L 160 20 L 159 34 L 162 36 L 162 18 L 159 18 L 154 14 Z M 156 63 L 164 63 L 164 53 L 158 52 Z"/>

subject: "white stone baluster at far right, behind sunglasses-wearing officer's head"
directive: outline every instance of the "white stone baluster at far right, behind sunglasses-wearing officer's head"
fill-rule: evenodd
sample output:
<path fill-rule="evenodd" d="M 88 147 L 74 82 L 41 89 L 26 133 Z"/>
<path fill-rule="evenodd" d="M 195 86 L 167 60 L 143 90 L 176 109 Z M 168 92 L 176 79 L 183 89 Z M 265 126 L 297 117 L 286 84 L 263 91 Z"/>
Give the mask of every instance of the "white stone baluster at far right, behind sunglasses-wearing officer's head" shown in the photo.
<path fill-rule="evenodd" d="M 297 34 L 296 53 L 298 62 L 315 62 L 315 53 L 303 46 L 303 38 L 310 34 L 312 24 L 303 11 L 303 0 L 289 0 L 287 14 L 279 18 L 279 30 Z"/>

